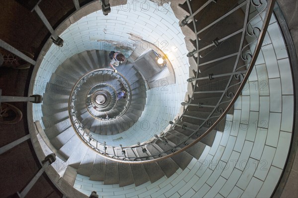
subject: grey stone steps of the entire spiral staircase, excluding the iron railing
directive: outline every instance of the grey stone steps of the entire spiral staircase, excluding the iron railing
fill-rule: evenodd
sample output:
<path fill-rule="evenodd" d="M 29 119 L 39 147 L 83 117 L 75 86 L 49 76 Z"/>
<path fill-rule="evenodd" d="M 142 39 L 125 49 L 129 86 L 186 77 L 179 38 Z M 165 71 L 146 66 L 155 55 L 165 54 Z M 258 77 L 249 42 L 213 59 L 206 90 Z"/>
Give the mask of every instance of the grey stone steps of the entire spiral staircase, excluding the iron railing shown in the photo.
<path fill-rule="evenodd" d="M 197 2 L 190 2 L 192 6 L 194 6 L 193 9 L 198 8 Z M 203 1 L 200 2 L 203 3 Z M 206 2 L 207 0 L 204 1 L 204 3 Z M 182 11 L 179 11 L 189 12 L 185 4 L 186 2 L 182 5 L 178 4 L 176 10 L 182 9 Z M 212 3 L 210 5 L 212 5 Z M 233 1 L 226 9 L 233 9 L 237 5 L 237 2 Z M 175 6 L 175 2 L 172 2 L 172 6 Z M 207 6 L 203 9 L 202 13 L 208 12 L 210 9 L 212 9 L 212 7 Z M 196 23 L 201 25 L 202 21 L 204 21 L 205 25 L 210 24 L 221 15 L 224 15 L 226 11 L 227 10 L 221 10 L 216 14 L 212 14 L 212 17 L 208 17 L 208 20 L 206 20 L 205 17 L 202 18 L 201 14 L 198 14 L 196 16 Z M 221 23 L 217 23 L 199 34 L 201 38 L 200 47 L 204 48 L 211 45 L 213 41 L 217 40 L 220 36 L 224 37 L 225 35 L 231 34 L 233 31 L 237 31 L 242 25 L 240 21 L 243 21 L 244 15 L 240 10 L 233 14 L 232 17 L 226 18 L 224 21 L 221 21 Z M 235 15 L 237 17 L 235 17 Z M 235 20 L 231 21 L 232 18 Z M 223 24 L 226 25 L 227 23 L 231 23 L 230 26 L 232 28 L 226 28 L 224 32 L 213 31 L 214 29 L 220 28 L 218 26 L 223 26 Z M 191 27 L 191 25 L 189 26 Z M 187 31 L 189 32 L 191 28 L 187 25 L 182 27 L 182 30 L 183 29 L 184 31 L 188 29 Z M 189 37 L 194 38 L 194 41 L 190 39 L 187 43 L 196 42 L 196 35 L 193 31 L 194 30 L 190 31 Z M 231 43 L 234 45 L 233 48 L 221 48 Z M 190 56 L 191 67 L 199 68 L 199 72 L 198 69 L 192 70 L 190 74 L 191 77 L 204 77 L 201 80 L 197 80 L 195 84 L 190 83 L 186 95 L 186 102 L 190 101 L 189 104 L 194 104 L 194 106 L 188 106 L 181 119 L 175 122 L 171 130 L 159 136 L 155 135 L 155 138 L 149 143 L 142 145 L 139 143 L 138 146 L 122 147 L 120 145 L 120 147 L 114 147 L 106 145 L 105 142 L 101 142 L 100 147 L 103 147 L 102 150 L 104 151 L 101 152 L 101 154 L 113 153 L 117 159 L 135 159 L 137 161 L 139 159 L 155 159 L 180 150 L 184 146 L 192 143 L 197 137 L 201 136 L 221 115 L 221 109 L 226 108 L 228 105 L 231 96 L 228 94 L 223 95 L 225 89 L 228 89 L 227 93 L 235 91 L 237 84 L 239 84 L 241 80 L 239 76 L 232 79 L 230 75 L 219 76 L 216 80 L 213 78 L 213 76 L 232 72 L 237 66 L 244 65 L 244 62 L 241 61 L 235 65 L 237 59 L 236 54 L 241 44 L 241 36 L 235 34 L 217 46 L 206 48 L 206 50 L 200 53 L 202 57 L 200 58 L 198 67 L 192 65 L 192 63 L 198 62 L 198 57 Z M 189 47 L 190 46 L 188 46 L 188 48 Z M 192 50 L 196 50 L 196 48 L 193 47 Z M 79 82 L 79 79 L 83 79 L 82 76 L 92 73 L 91 71 L 96 69 L 107 68 L 107 53 L 106 51 L 98 50 L 85 51 L 67 59 L 51 76 L 44 94 L 42 120 L 45 125 L 45 132 L 52 145 L 57 149 L 57 154 L 62 159 L 66 160 L 66 163 L 74 168 L 78 174 L 87 176 L 93 181 L 103 181 L 104 184 L 119 184 L 120 187 L 130 184 L 139 186 L 148 181 L 153 183 L 164 175 L 169 178 L 178 168 L 184 170 L 192 158 L 199 159 L 205 147 L 212 146 L 217 132 L 224 131 L 225 120 L 218 125 L 216 130 L 210 132 L 191 148 L 157 162 L 125 164 L 98 155 L 90 147 L 88 148 L 85 145 L 86 142 L 83 143 L 75 134 L 71 124 L 72 121 L 69 117 L 68 103 L 70 94 L 72 94 L 72 90 L 74 91 L 74 85 Z M 108 113 L 97 112 L 97 114 L 95 113 L 96 115 L 88 109 L 88 104 L 85 102 L 85 98 L 88 98 L 88 93 L 92 87 L 96 87 L 98 84 L 104 82 L 116 90 L 116 92 L 112 91 L 111 87 L 109 90 L 106 89 L 106 91 L 111 94 L 111 100 L 114 100 L 115 103 L 115 93 L 123 90 L 123 87 L 116 77 L 111 78 L 113 72 L 102 74 L 100 77 L 91 76 L 88 79 L 83 79 L 84 85 L 78 89 L 78 97 L 75 104 L 76 110 L 74 113 L 77 114 L 77 120 L 79 120 L 82 128 L 87 129 L 91 134 L 111 135 L 123 132 L 132 127 L 142 115 L 146 103 L 146 90 L 144 90 L 144 81 L 141 75 L 133 67 L 133 63 L 129 62 L 119 66 L 117 70 L 127 79 L 132 89 L 131 104 L 128 110 L 119 118 L 117 114 L 122 111 L 121 107 L 125 105 L 126 100 L 117 101 L 117 104 L 110 108 L 109 110 L 112 110 L 108 111 Z M 234 86 L 229 87 L 231 82 Z M 190 95 L 192 95 L 191 98 Z M 219 108 L 215 109 L 216 106 Z M 94 109 L 92 111 L 94 111 Z M 232 113 L 232 110 L 230 112 Z M 91 114 L 93 116 L 91 116 Z M 211 115 L 212 117 L 210 117 Z M 95 119 L 96 117 L 100 117 L 100 119 Z M 109 120 L 111 118 L 116 119 Z M 47 123 L 49 127 L 47 127 Z M 122 128 L 122 123 L 129 123 L 128 128 Z M 200 128 L 199 131 L 197 131 L 198 128 Z M 89 142 L 93 141 L 91 136 L 92 135 L 89 135 Z"/>

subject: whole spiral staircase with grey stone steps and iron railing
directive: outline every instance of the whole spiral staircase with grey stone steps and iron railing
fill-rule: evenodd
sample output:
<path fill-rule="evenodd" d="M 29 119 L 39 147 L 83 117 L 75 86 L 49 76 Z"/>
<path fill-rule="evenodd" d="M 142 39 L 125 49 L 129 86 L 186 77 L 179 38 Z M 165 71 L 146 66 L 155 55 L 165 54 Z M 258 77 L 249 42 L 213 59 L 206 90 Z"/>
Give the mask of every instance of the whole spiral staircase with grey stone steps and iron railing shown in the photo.
<path fill-rule="evenodd" d="M 265 17 L 261 25 L 251 22 L 271 14 L 273 2 L 171 1 L 186 36 L 189 83 L 168 130 L 144 142 L 116 146 L 100 139 L 132 128 L 146 108 L 146 79 L 134 61 L 127 57 L 116 73 L 108 67 L 109 51 L 86 50 L 67 58 L 51 73 L 42 93 L 42 125 L 33 126 L 41 136 L 45 134 L 37 153 L 53 152 L 66 164 L 48 175 L 58 173 L 66 186 L 74 185 L 76 175 L 81 175 L 103 185 L 138 187 L 171 178 L 201 159 L 223 136 L 226 119 L 234 114 L 233 104 L 257 61 L 270 18 Z M 218 7 L 224 8 L 211 11 Z M 117 100 L 122 90 L 126 98 Z"/>

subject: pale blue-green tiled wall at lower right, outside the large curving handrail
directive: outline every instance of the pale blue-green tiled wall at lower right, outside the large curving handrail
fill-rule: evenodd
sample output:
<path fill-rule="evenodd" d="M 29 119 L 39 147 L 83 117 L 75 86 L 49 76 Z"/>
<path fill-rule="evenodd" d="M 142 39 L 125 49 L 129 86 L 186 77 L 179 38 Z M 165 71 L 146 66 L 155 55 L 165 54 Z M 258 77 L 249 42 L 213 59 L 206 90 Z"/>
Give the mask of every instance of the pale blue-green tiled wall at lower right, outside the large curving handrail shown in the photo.
<path fill-rule="evenodd" d="M 262 20 L 255 19 L 255 23 Z M 279 25 L 272 16 L 262 52 L 227 115 L 224 132 L 185 170 L 151 184 L 103 185 L 77 175 L 74 188 L 103 197 L 270 197 L 282 175 L 291 143 L 294 92 L 291 66 Z"/>

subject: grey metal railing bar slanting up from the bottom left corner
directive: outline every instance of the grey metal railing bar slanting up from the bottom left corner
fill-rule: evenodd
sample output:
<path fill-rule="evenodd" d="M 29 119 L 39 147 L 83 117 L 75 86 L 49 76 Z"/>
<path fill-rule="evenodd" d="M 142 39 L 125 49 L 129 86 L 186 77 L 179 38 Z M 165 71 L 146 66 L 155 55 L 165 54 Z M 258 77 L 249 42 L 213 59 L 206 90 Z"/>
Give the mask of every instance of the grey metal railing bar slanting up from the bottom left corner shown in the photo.
<path fill-rule="evenodd" d="M 56 161 L 56 155 L 54 153 L 46 156 L 43 161 L 42 168 L 36 173 L 36 175 L 33 177 L 33 179 L 29 182 L 29 184 L 24 188 L 24 190 L 21 193 L 17 192 L 18 197 L 19 198 L 26 197 L 28 192 L 31 190 L 31 188 L 34 186 L 34 184 L 37 182 L 37 180 L 40 178 L 43 172 L 49 167 L 50 164 L 52 164 L 55 161 Z"/>

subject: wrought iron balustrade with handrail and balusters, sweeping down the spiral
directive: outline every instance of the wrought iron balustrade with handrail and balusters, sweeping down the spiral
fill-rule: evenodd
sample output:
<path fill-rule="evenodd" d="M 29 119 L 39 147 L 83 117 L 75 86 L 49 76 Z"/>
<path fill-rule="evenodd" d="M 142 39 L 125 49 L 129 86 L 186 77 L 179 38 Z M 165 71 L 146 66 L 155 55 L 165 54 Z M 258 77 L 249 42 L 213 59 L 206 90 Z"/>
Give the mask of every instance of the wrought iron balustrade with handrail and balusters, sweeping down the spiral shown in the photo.
<path fill-rule="evenodd" d="M 273 12 L 275 0 L 240 0 L 223 16 L 211 22 L 199 31 L 197 31 L 196 27 L 196 15 L 199 14 L 202 10 L 206 9 L 209 4 L 217 3 L 217 0 L 206 1 L 206 3 L 202 5 L 198 10 L 192 10 L 191 3 L 193 1 L 186 0 L 186 2 L 188 4 L 190 16 L 186 16 L 186 18 L 181 22 L 180 25 L 193 25 L 193 30 L 196 35 L 196 49 L 190 52 L 187 56 L 193 57 L 196 60 L 197 71 L 195 77 L 188 79 L 188 82 L 192 85 L 192 95 L 190 96 L 188 101 L 184 101 L 181 103 L 181 105 L 184 107 L 183 114 L 180 115 L 180 117 L 174 122 L 169 122 L 170 125 L 172 125 L 169 131 L 163 132 L 160 135 L 155 135 L 147 142 L 138 143 L 137 145 L 127 147 L 123 147 L 122 145 L 110 146 L 107 145 L 105 142 L 100 142 L 94 139 L 90 135 L 88 130 L 85 130 L 83 128 L 83 126 L 75 116 L 75 94 L 78 93 L 79 87 L 86 80 L 85 78 L 88 78 L 94 75 L 95 72 L 99 71 L 92 71 L 86 74 L 75 84 L 69 101 L 69 115 L 73 122 L 72 125 L 79 137 L 84 141 L 84 143 L 97 151 L 99 155 L 123 163 L 147 163 L 162 160 L 181 153 L 197 142 L 201 141 L 204 137 L 206 137 L 206 135 L 212 132 L 212 130 L 214 130 L 218 126 L 218 124 L 223 121 L 224 117 L 227 115 L 228 111 L 232 108 L 236 99 L 241 94 L 241 91 L 246 84 L 246 81 L 252 71 L 253 66 L 256 63 L 258 54 L 261 50 L 263 40 L 267 32 L 267 27 L 269 25 L 270 17 Z M 212 41 L 212 43 L 200 48 L 200 41 L 202 40 L 202 38 L 200 38 L 200 34 L 202 32 L 207 31 L 210 28 L 212 29 L 226 17 L 239 10 L 243 11 L 244 13 L 242 29 L 238 29 L 228 35 L 222 35 L 221 38 L 218 37 L 217 39 Z M 260 21 L 261 26 L 260 23 L 252 23 L 257 17 L 263 18 L 263 20 Z M 238 41 L 239 45 L 237 46 L 237 52 L 210 60 L 205 63 L 200 63 L 200 59 L 209 56 L 211 53 L 215 53 L 216 49 L 220 47 L 224 43 L 224 41 L 227 41 L 234 36 L 240 37 L 240 40 Z M 202 68 L 203 66 L 212 63 L 220 63 L 231 57 L 235 58 L 235 62 L 233 63 L 231 70 L 225 71 L 224 73 L 220 74 L 204 74 L 205 76 L 203 76 L 203 74 L 200 72 L 200 67 Z M 111 75 L 114 74 L 111 72 Z M 222 77 L 227 77 L 228 80 L 225 87 L 223 87 L 221 90 L 198 90 L 198 84 L 201 80 L 212 81 L 221 79 Z M 120 78 L 124 79 L 123 76 L 120 76 L 119 79 Z M 123 83 L 125 84 L 125 80 L 123 80 Z M 129 87 L 129 84 L 127 84 L 127 86 Z M 196 101 L 195 96 L 203 93 L 217 93 L 220 94 L 220 97 L 217 103 L 214 105 L 208 105 L 201 102 L 194 103 L 194 101 Z M 127 105 L 129 106 L 129 98 Z M 209 112 L 209 115 L 207 117 L 200 118 L 187 114 L 189 108 L 191 107 L 209 108 L 211 109 L 211 111 Z M 121 115 L 123 115 L 124 113 L 125 111 Z M 183 119 L 185 118 L 199 120 L 200 122 L 198 122 L 197 128 L 193 129 L 192 127 L 189 127 L 189 125 L 183 121 Z M 171 134 L 171 132 L 177 128 L 188 130 L 191 133 L 190 135 L 186 135 L 185 138 L 182 138 L 178 143 L 173 144 L 172 142 L 167 141 L 166 136 L 168 134 Z M 156 147 L 156 142 L 164 144 L 167 149 L 161 150 L 160 148 Z M 134 154 L 129 156 L 128 151 Z M 143 153 L 142 156 L 138 154 L 137 151 L 141 151 L 141 153 Z"/>

